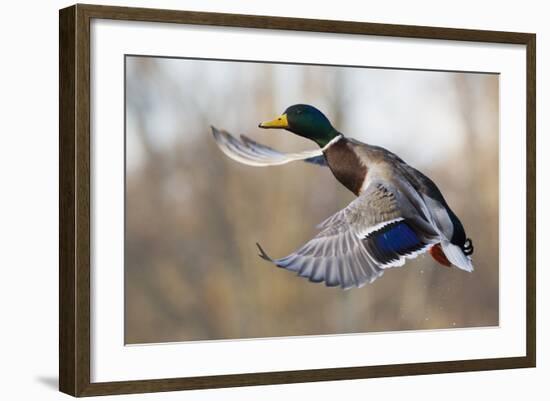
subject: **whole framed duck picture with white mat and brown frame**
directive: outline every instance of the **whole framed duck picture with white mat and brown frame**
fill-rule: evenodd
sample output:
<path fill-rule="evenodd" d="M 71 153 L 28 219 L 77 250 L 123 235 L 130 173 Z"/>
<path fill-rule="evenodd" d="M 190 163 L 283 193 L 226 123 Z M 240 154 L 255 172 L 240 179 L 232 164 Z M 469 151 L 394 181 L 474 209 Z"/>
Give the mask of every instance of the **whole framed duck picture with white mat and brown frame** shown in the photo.
<path fill-rule="evenodd" d="M 535 366 L 535 35 L 60 11 L 60 390 Z"/>

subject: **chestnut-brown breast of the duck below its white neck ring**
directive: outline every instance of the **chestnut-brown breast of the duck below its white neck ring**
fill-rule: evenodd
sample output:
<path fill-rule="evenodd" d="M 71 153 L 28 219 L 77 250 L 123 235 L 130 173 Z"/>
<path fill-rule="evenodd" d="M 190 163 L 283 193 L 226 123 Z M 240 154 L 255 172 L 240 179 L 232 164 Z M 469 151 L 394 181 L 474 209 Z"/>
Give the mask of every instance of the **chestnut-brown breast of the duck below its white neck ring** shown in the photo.
<path fill-rule="evenodd" d="M 364 166 L 346 138 L 342 138 L 325 150 L 325 157 L 332 174 L 355 195 L 359 195 L 367 176 Z"/>

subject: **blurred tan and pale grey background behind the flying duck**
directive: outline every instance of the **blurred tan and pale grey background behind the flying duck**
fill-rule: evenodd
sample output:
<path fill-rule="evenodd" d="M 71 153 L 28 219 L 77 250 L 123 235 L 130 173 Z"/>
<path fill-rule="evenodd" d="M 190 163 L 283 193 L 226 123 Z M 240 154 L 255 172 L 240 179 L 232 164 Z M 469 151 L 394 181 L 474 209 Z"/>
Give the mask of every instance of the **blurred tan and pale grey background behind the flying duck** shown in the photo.
<path fill-rule="evenodd" d="M 498 75 L 126 58 L 125 341 L 150 343 L 498 325 Z M 262 131 L 294 103 L 430 176 L 475 245 L 471 274 L 429 255 L 326 288 L 261 260 L 294 251 L 353 195 L 326 168 L 253 168 L 210 125 Z"/>

